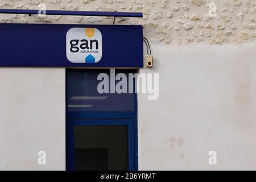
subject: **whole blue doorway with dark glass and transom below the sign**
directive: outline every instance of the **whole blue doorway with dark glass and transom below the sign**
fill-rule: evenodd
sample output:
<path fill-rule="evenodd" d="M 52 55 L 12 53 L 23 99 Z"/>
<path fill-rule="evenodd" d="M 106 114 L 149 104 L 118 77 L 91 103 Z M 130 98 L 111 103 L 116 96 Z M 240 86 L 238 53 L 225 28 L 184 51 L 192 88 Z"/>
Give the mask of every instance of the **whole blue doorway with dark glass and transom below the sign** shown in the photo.
<path fill-rule="evenodd" d="M 67 169 L 137 170 L 137 94 L 98 93 L 97 76 L 109 75 L 109 69 L 67 69 L 66 73 Z"/>

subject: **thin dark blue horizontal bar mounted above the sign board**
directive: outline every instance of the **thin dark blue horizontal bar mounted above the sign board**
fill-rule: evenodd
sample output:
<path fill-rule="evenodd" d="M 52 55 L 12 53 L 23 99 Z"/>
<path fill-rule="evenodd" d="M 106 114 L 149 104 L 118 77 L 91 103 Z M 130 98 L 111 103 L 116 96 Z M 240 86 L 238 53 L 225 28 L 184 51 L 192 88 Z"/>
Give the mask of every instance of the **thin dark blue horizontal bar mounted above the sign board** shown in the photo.
<path fill-rule="evenodd" d="M 42 10 L 0 9 L 0 14 L 38 14 Z M 72 16 L 115 16 L 115 17 L 143 17 L 136 12 L 109 12 L 109 11 L 63 11 L 46 10 L 46 15 L 72 15 Z"/>

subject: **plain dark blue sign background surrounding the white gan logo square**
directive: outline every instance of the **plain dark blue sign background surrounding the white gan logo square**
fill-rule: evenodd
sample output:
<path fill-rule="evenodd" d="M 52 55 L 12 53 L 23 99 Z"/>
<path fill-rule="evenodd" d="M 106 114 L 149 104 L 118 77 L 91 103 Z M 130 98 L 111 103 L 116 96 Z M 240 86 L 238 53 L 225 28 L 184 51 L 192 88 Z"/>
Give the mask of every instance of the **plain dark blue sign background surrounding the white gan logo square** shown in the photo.
<path fill-rule="evenodd" d="M 94 64 L 71 63 L 66 34 L 74 27 L 97 28 L 102 58 Z M 75 24 L 0 24 L 0 66 L 4 67 L 143 67 L 142 26 Z"/>

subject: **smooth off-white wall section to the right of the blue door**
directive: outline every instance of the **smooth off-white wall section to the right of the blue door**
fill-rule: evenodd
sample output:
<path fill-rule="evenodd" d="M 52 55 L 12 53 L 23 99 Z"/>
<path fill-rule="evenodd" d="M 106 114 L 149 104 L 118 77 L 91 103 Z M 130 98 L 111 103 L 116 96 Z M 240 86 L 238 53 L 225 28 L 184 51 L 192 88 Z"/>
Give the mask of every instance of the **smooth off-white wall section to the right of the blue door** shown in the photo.
<path fill-rule="evenodd" d="M 140 72 L 159 73 L 159 99 L 139 94 L 139 169 L 256 169 L 255 47 L 152 44 Z"/>

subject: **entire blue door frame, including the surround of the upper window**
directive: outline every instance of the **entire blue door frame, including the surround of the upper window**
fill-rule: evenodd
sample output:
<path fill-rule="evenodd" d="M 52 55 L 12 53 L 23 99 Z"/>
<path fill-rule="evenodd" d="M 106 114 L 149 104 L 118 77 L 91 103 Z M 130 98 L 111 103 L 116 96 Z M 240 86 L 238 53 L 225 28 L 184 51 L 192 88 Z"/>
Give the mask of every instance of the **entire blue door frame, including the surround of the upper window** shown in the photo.
<path fill-rule="evenodd" d="M 85 71 L 85 70 L 84 70 Z M 86 70 L 87 71 L 87 70 Z M 90 69 L 90 71 L 93 71 Z M 95 70 L 97 71 L 97 69 Z M 124 72 L 137 72 L 123 70 Z M 73 127 L 80 125 L 127 125 L 129 170 L 138 171 L 138 120 L 137 94 L 134 92 L 134 111 L 68 111 L 68 72 L 82 72 L 82 69 L 66 69 L 66 169 L 74 169 Z M 134 85 L 134 89 L 135 85 Z M 118 103 L 117 103 L 118 104 Z"/>

